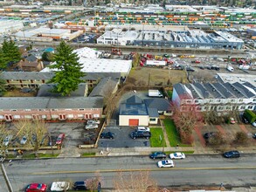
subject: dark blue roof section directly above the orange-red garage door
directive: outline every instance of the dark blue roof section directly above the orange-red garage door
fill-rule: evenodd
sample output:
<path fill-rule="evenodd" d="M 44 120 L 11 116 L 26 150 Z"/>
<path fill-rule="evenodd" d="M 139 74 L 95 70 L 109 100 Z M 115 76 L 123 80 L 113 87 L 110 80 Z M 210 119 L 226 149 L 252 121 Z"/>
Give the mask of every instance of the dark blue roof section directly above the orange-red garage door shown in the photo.
<path fill-rule="evenodd" d="M 141 104 L 127 104 L 121 103 L 120 105 L 120 115 L 148 115 L 147 106 L 143 103 Z"/>

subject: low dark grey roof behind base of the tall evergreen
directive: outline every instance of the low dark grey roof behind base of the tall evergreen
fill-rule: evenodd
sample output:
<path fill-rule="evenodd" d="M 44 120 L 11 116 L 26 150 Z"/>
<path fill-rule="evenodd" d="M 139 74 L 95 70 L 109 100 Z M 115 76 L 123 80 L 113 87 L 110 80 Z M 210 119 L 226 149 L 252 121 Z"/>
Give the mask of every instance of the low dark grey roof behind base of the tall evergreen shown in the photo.
<path fill-rule="evenodd" d="M 52 89 L 56 84 L 44 84 L 39 87 L 37 97 L 63 97 L 60 93 L 53 93 Z M 85 97 L 86 83 L 80 83 L 78 89 L 70 93 L 71 97 Z"/>

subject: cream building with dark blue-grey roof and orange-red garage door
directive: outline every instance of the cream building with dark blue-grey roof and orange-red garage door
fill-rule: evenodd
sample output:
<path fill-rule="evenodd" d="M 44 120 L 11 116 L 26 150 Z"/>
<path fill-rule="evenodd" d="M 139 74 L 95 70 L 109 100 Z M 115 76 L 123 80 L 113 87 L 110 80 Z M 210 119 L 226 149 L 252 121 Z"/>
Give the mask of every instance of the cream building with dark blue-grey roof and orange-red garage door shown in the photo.
<path fill-rule="evenodd" d="M 159 113 L 166 114 L 168 112 L 170 112 L 170 102 L 168 99 L 154 98 L 143 100 L 133 95 L 120 105 L 119 125 L 156 125 L 158 123 Z"/>

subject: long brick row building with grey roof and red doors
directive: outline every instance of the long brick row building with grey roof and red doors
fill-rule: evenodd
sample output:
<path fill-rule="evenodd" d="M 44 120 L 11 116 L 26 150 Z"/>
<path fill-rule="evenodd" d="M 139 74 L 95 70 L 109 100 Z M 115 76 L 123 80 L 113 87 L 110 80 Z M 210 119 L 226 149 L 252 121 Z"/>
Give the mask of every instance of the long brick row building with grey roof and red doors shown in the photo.
<path fill-rule="evenodd" d="M 0 121 L 100 119 L 102 97 L 0 98 Z"/>

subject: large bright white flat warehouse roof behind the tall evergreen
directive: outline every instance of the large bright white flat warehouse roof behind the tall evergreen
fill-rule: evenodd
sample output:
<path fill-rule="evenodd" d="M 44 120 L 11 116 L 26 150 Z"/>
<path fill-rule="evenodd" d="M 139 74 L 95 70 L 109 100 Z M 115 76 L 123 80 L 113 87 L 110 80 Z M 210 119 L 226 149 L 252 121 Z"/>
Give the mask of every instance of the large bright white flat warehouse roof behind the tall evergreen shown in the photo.
<path fill-rule="evenodd" d="M 132 60 L 96 58 L 99 51 L 90 48 L 75 50 L 79 55 L 79 62 L 82 64 L 82 72 L 121 72 L 127 73 L 132 67 Z M 52 69 L 45 67 L 41 72 L 51 72 Z"/>

